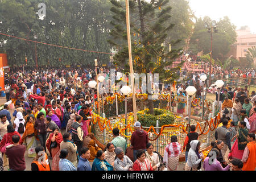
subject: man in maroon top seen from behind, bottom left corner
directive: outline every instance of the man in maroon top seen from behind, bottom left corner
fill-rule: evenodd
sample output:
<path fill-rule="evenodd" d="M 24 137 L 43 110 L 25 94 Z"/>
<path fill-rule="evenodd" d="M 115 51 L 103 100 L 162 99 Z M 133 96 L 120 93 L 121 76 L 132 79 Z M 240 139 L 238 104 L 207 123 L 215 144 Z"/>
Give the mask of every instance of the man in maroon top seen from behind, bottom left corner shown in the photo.
<path fill-rule="evenodd" d="M 9 158 L 10 171 L 24 171 L 26 169 L 25 151 L 26 146 L 19 144 L 19 135 L 13 135 L 13 143 L 6 147 L 6 156 Z"/>

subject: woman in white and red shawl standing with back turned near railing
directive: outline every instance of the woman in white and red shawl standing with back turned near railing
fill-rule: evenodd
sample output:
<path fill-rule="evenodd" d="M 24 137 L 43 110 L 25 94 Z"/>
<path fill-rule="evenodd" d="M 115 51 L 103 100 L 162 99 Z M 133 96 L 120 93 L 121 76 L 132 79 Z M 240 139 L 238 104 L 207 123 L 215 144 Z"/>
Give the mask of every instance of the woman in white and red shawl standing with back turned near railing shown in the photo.
<path fill-rule="evenodd" d="M 181 153 L 180 144 L 177 142 L 176 135 L 172 135 L 171 143 L 168 143 L 164 150 L 163 162 L 166 163 L 168 171 L 175 171 L 179 165 Z"/>

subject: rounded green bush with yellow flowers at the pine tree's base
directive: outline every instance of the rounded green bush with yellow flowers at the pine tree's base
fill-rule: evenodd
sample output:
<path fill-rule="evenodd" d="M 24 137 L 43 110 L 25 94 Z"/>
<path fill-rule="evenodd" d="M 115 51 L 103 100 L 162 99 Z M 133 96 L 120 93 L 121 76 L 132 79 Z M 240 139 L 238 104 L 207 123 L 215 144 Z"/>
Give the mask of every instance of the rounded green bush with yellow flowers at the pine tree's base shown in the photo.
<path fill-rule="evenodd" d="M 156 126 L 156 121 L 159 121 L 159 127 L 163 125 L 170 125 L 175 122 L 175 115 L 171 111 L 165 109 L 154 109 L 154 114 L 149 114 L 149 109 L 139 111 L 137 113 L 138 121 L 142 126 Z"/>

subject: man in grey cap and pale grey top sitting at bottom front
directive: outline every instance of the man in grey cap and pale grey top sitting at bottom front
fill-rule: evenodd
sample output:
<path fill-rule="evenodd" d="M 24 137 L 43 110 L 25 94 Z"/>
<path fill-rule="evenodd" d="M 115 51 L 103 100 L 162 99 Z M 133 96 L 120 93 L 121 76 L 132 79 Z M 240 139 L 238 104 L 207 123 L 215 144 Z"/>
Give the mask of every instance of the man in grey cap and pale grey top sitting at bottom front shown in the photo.
<path fill-rule="evenodd" d="M 130 171 L 133 168 L 133 162 L 128 156 L 123 154 L 121 147 L 115 148 L 115 155 L 117 156 L 117 159 L 114 161 L 115 171 Z"/>

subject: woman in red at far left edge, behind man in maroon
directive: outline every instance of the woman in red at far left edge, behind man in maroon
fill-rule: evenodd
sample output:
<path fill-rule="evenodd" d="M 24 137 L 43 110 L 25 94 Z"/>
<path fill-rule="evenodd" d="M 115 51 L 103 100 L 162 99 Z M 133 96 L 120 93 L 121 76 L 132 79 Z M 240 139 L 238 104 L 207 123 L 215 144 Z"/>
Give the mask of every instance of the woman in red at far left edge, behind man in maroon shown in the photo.
<path fill-rule="evenodd" d="M 7 160 L 7 157 L 5 155 L 5 150 L 7 146 L 9 146 L 10 144 L 13 144 L 13 138 L 12 138 L 13 135 L 19 135 L 20 137 L 20 134 L 17 131 L 15 131 L 13 125 L 8 125 L 7 133 L 3 135 L 3 139 L 1 140 L 1 143 L 0 143 L 0 151 L 3 154 L 3 167 L 9 165 L 9 161 Z M 20 137 L 19 144 L 21 143 L 22 143 L 22 138 Z"/>

